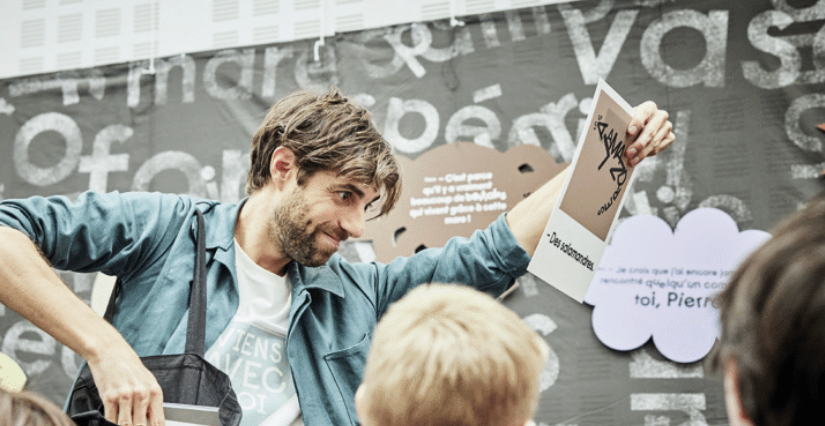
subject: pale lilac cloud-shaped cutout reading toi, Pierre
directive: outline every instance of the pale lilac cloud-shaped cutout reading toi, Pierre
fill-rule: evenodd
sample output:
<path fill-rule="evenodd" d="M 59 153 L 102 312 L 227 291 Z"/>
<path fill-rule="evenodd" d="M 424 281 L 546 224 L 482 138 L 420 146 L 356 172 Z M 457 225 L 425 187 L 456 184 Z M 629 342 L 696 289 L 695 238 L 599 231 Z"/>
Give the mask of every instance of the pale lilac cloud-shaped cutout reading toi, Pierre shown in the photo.
<path fill-rule="evenodd" d="M 651 337 L 676 362 L 695 362 L 719 336 L 713 298 L 770 234 L 739 232 L 725 212 L 699 208 L 671 231 L 656 216 L 633 216 L 614 231 L 588 290 L 593 331 L 606 346 L 632 350 Z"/>

